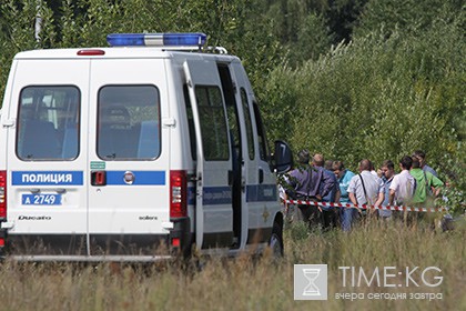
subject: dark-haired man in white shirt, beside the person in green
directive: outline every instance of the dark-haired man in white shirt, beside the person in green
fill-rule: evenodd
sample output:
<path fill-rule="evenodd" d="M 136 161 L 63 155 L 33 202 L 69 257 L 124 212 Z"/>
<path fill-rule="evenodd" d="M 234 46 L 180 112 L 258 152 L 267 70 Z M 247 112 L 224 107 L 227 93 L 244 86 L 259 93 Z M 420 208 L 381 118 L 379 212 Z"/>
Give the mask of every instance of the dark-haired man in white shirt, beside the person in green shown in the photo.
<path fill-rule="evenodd" d="M 403 157 L 399 161 L 402 172 L 393 178 L 392 184 L 389 185 L 388 201 L 391 205 L 406 204 L 413 198 L 415 181 L 409 174 L 412 163 L 413 159 L 408 156 Z"/>

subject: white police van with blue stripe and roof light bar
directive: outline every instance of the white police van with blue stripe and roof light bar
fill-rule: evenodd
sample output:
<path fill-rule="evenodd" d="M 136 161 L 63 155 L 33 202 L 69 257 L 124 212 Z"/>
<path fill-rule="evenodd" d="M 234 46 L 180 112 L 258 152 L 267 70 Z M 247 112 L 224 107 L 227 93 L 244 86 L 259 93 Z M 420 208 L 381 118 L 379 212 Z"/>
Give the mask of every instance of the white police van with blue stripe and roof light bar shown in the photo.
<path fill-rule="evenodd" d="M 203 33 L 14 57 L 0 126 L 0 250 L 153 261 L 283 250 L 273 170 L 241 61 Z"/>

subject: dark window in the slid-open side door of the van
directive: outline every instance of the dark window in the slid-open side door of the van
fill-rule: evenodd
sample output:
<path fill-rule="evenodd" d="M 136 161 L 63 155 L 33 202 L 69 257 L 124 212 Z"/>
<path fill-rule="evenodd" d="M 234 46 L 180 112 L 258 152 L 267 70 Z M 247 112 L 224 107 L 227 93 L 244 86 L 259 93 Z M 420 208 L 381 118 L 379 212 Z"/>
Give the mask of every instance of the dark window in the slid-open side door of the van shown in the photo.
<path fill-rule="evenodd" d="M 220 89 L 217 87 L 196 87 L 195 97 L 205 160 L 229 160 L 229 136 Z"/>

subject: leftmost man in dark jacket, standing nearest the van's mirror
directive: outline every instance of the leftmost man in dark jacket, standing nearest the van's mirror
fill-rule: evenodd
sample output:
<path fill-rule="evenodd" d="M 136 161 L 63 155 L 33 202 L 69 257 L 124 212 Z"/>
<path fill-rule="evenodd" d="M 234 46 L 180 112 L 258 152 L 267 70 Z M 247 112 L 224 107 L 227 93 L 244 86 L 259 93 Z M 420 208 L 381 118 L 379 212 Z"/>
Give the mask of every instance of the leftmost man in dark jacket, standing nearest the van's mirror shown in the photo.
<path fill-rule="evenodd" d="M 305 201 L 322 201 L 334 187 L 332 178 L 322 167 L 310 165 L 311 156 L 307 150 L 297 153 L 300 167 L 290 172 L 287 190 L 288 198 Z M 322 209 L 317 205 L 298 204 L 296 218 L 313 224 L 322 222 Z"/>

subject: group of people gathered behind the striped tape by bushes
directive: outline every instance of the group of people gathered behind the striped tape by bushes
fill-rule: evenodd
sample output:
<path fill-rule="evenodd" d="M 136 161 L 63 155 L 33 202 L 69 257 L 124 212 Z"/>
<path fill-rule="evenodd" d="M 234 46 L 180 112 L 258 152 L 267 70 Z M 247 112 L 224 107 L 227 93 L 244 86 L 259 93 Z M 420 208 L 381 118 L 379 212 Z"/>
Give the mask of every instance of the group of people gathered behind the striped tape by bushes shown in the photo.
<path fill-rule="evenodd" d="M 341 227 L 343 231 L 350 231 L 355 221 L 369 214 L 375 214 L 381 221 L 389 221 L 397 215 L 379 207 L 424 207 L 430 198 L 439 194 L 444 185 L 437 172 L 426 164 L 426 154 L 422 150 L 399 160 L 399 173 L 395 173 L 392 160 L 385 160 L 375 170 L 368 159 L 362 160 L 358 173 L 354 173 L 342 161 L 325 161 L 318 153 L 311 159 L 308 150 L 301 150 L 297 161 L 297 168 L 284 177 L 281 188 L 285 210 L 288 210 L 287 199 L 352 204 L 341 208 L 297 204 L 293 219 L 307 222 L 310 228 Z M 361 205 L 365 204 L 375 208 L 362 209 Z M 403 217 L 406 219 L 406 214 Z"/>

